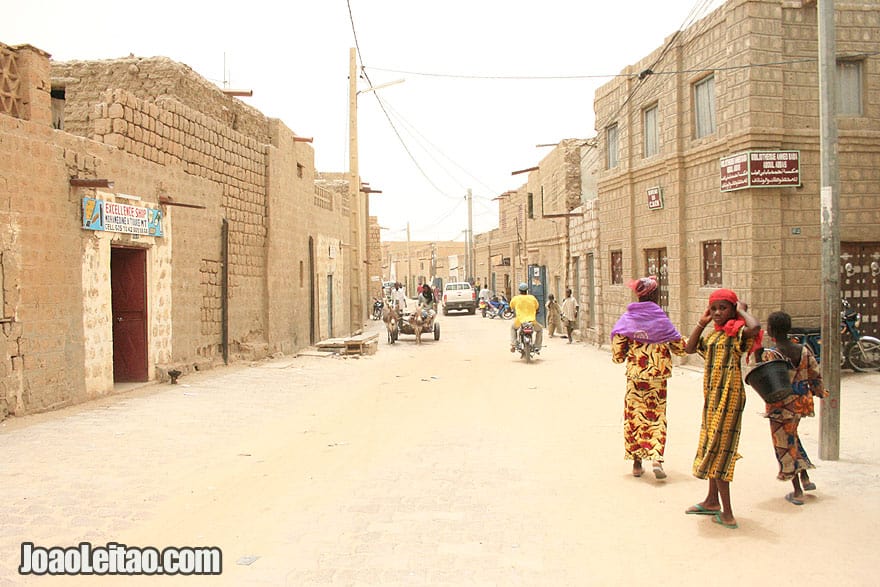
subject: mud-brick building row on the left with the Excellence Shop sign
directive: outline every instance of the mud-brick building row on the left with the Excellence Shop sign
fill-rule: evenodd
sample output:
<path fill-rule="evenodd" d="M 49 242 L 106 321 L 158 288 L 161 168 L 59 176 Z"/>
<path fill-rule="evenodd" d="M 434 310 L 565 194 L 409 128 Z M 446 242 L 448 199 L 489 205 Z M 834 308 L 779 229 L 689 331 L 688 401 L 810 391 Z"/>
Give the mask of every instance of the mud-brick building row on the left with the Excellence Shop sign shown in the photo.
<path fill-rule="evenodd" d="M 166 58 L 0 44 L 0 418 L 347 333 L 347 192 Z"/>

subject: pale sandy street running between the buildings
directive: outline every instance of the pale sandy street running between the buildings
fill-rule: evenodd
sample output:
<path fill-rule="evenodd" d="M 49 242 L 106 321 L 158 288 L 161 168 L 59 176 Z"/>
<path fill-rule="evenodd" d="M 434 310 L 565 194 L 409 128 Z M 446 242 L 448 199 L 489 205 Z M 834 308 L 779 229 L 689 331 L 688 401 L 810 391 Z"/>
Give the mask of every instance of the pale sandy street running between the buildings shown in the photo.
<path fill-rule="evenodd" d="M 670 381 L 669 477 L 623 460 L 624 368 L 510 322 L 440 316 L 417 346 L 282 357 L 0 424 L 0 585 L 876 585 L 880 375 L 844 371 L 841 458 L 783 496 L 749 390 L 732 484 L 740 527 L 685 508 L 700 371 Z M 370 323 L 379 331 L 381 324 Z M 384 332 L 384 331 L 383 331 Z M 20 544 L 218 546 L 214 577 L 19 576 Z"/>

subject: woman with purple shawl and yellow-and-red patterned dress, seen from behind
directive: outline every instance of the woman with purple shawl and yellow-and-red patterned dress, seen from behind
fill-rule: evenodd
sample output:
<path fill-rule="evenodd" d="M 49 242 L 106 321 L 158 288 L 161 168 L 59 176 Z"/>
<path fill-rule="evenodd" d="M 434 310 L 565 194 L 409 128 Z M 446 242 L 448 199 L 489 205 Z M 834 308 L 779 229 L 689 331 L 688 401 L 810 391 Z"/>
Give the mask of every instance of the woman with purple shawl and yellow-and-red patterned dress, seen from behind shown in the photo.
<path fill-rule="evenodd" d="M 665 479 L 666 380 L 672 375 L 672 355 L 684 355 L 685 341 L 663 309 L 657 278 L 643 277 L 629 287 L 639 301 L 611 330 L 611 358 L 626 361 L 623 409 L 624 458 L 633 461 L 633 476 L 642 476 L 642 461 L 650 459 L 657 479 Z"/>

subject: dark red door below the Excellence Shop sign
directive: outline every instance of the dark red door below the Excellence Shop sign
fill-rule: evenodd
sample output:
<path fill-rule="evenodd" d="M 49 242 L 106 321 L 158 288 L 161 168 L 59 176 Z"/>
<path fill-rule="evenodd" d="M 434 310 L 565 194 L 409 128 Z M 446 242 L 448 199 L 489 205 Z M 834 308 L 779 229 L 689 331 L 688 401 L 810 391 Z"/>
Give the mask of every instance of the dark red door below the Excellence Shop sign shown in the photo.
<path fill-rule="evenodd" d="M 113 380 L 147 381 L 147 252 L 110 252 L 113 308 Z"/>

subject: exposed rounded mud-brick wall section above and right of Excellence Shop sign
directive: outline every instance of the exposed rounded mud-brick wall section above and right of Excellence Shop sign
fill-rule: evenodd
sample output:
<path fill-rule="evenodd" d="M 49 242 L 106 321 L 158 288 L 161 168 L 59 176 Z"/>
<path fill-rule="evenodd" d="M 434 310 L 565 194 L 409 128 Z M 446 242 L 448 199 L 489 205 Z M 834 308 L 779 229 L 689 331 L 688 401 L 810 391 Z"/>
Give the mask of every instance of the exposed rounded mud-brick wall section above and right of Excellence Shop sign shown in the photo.
<path fill-rule="evenodd" d="M 228 219 L 233 352 L 243 356 L 265 355 L 266 327 L 259 300 L 266 295 L 266 145 L 175 98 L 150 102 L 127 90 L 100 95 L 100 101 L 92 106 L 90 128 L 94 133 L 90 138 L 95 141 L 158 165 L 182 169 L 207 182 L 208 192 L 168 193 L 166 196 L 183 203 L 198 201 L 211 210 L 219 207 L 222 216 Z M 207 194 L 210 197 L 205 197 Z M 176 208 L 172 214 L 184 222 L 179 225 L 182 232 L 208 232 L 219 238 L 222 218 L 208 219 L 204 214 L 184 208 Z M 201 220 L 189 226 L 193 218 Z M 186 264 L 218 263 L 219 251 L 216 255 L 188 259 Z M 199 326 L 200 332 L 216 330 L 218 304 L 219 297 L 200 304 L 199 314 L 207 320 L 207 324 Z M 216 357 L 217 344 L 211 343 L 201 349 L 200 354 L 206 358 Z"/>

